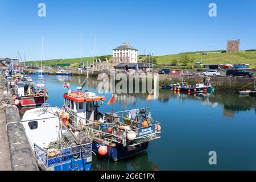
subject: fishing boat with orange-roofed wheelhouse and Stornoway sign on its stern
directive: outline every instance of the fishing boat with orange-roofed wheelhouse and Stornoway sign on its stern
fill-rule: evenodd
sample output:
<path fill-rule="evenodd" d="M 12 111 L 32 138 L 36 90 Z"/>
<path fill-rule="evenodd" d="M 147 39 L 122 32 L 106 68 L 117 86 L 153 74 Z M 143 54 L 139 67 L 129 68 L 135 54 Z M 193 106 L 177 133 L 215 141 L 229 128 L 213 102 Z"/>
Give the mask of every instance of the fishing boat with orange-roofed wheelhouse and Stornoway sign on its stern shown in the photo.
<path fill-rule="evenodd" d="M 84 82 L 76 92 L 64 88 L 63 110 L 69 114 L 70 129 L 85 131 L 92 139 L 92 150 L 114 161 L 146 151 L 148 142 L 159 139 L 160 123 L 151 117 L 147 108 L 102 114 L 98 107 L 106 100 L 93 92 L 82 92 Z M 114 96 L 112 97 L 112 101 Z"/>

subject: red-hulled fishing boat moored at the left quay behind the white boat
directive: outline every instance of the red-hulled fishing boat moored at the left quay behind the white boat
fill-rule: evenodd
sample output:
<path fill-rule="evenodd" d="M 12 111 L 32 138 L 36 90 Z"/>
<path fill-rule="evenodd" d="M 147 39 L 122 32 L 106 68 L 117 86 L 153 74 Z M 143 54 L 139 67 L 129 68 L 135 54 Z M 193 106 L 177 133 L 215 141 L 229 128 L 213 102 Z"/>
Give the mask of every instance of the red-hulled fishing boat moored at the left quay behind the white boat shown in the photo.
<path fill-rule="evenodd" d="M 15 104 L 20 107 L 40 106 L 49 98 L 44 84 L 31 81 L 11 84 L 11 93 Z"/>

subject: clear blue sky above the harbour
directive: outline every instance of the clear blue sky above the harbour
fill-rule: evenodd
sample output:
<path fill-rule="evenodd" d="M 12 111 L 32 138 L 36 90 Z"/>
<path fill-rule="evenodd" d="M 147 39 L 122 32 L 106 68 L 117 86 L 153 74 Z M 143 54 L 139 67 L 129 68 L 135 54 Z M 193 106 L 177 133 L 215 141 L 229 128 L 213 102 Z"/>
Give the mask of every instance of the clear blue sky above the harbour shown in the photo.
<path fill-rule="evenodd" d="M 46 3 L 46 17 L 38 4 Z M 217 17 L 208 15 L 209 3 Z M 227 39 L 241 39 L 241 49 L 256 48 L 256 1 L 232 0 L 0 0 L 0 57 L 26 52 L 27 60 L 110 55 L 130 42 L 139 54 L 168 55 L 225 49 Z"/>

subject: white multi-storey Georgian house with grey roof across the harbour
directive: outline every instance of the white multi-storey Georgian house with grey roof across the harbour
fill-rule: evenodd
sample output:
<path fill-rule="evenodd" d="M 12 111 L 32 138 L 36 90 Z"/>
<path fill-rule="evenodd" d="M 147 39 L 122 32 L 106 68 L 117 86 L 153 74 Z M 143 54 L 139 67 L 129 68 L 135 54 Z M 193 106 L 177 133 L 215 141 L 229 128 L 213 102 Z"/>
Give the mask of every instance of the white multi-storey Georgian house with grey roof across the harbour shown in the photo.
<path fill-rule="evenodd" d="M 129 42 L 124 42 L 121 46 L 113 49 L 114 63 L 137 63 L 138 50 L 131 47 Z"/>

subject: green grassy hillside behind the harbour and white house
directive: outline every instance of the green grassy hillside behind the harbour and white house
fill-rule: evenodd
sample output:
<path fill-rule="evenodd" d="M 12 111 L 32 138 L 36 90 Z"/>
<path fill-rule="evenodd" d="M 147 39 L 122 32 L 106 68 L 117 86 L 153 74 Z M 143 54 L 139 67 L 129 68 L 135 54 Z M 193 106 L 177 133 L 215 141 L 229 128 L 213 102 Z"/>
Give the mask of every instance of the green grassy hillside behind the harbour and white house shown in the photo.
<path fill-rule="evenodd" d="M 170 65 L 172 60 L 176 59 L 178 65 L 181 65 L 180 58 L 182 55 L 188 55 L 190 58 L 194 58 L 193 63 L 188 63 L 188 65 L 195 65 L 195 62 L 203 61 L 203 64 L 250 64 L 250 68 L 256 68 L 256 51 L 247 52 L 234 52 L 234 53 L 212 53 L 209 55 L 202 55 L 203 52 L 220 52 L 220 51 L 198 51 L 198 52 L 183 52 L 175 55 L 165 55 L 165 56 L 154 56 L 157 67 L 161 65 Z M 96 56 L 99 57 L 99 56 Z M 109 56 L 108 56 L 109 57 Z M 142 61 L 143 56 L 138 57 L 138 61 Z M 102 59 L 101 59 L 102 60 Z M 92 63 L 93 57 L 83 57 L 82 63 L 86 65 L 86 61 Z M 109 61 L 112 61 L 112 57 L 109 57 Z M 41 61 L 28 61 L 27 64 L 37 64 L 40 65 Z M 55 60 L 45 60 L 43 65 L 51 66 L 54 64 L 71 64 L 71 67 L 79 67 L 80 58 L 74 59 L 55 59 Z"/>

